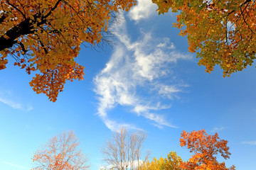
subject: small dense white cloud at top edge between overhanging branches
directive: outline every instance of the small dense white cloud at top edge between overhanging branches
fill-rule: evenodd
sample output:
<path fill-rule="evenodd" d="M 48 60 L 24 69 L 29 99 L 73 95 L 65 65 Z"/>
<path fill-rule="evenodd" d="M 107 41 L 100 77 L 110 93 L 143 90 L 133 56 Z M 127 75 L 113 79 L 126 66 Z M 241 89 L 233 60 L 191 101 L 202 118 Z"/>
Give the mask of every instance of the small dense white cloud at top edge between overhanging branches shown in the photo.
<path fill-rule="evenodd" d="M 151 0 L 138 0 L 137 5 L 129 11 L 129 18 L 134 21 L 146 19 L 151 14 L 156 13 L 157 6 Z"/>

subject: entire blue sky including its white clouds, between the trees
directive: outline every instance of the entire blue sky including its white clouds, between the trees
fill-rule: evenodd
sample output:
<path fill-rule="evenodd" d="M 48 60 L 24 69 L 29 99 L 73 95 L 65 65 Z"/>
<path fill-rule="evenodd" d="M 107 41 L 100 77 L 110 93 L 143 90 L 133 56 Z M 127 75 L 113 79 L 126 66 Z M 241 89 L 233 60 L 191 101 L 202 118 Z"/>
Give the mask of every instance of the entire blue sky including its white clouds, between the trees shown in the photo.
<path fill-rule="evenodd" d="M 232 153 L 226 164 L 255 169 L 255 67 L 225 79 L 218 67 L 206 73 L 172 27 L 176 16 L 158 16 L 150 0 L 121 17 L 111 28 L 112 48 L 82 47 L 84 80 L 65 84 L 55 103 L 33 92 L 33 75 L 11 59 L 1 70 L 0 169 L 31 169 L 33 152 L 65 130 L 74 130 L 91 169 L 100 169 L 100 147 L 122 126 L 147 132 L 151 159 L 175 151 L 188 160 L 191 153 L 179 145 L 183 130 L 218 132 Z"/>

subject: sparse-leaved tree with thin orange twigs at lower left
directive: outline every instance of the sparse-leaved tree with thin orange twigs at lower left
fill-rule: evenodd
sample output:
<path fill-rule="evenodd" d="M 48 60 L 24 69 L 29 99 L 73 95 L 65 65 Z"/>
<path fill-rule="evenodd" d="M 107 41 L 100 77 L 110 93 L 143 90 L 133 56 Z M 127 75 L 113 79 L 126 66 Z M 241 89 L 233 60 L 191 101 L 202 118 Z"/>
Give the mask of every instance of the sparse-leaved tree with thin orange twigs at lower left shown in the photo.
<path fill-rule="evenodd" d="M 78 139 L 73 131 L 63 132 L 50 139 L 35 152 L 32 170 L 85 170 L 87 158 L 78 149 Z"/>

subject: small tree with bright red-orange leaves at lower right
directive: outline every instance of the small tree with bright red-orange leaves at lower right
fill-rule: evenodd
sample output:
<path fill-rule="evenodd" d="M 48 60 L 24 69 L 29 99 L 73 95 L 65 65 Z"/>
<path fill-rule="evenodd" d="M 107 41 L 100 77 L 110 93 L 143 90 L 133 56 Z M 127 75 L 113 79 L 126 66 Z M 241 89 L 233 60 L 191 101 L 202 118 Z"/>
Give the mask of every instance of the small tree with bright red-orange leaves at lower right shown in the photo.
<path fill-rule="evenodd" d="M 235 169 L 235 166 L 226 168 L 225 162 L 219 163 L 217 155 L 220 154 L 224 159 L 230 158 L 227 140 L 220 140 L 218 133 L 208 135 L 205 130 L 186 132 L 183 130 L 180 138 L 181 147 L 186 147 L 194 154 L 188 162 L 181 162 L 181 169 L 209 169 L 209 170 L 228 170 Z"/>

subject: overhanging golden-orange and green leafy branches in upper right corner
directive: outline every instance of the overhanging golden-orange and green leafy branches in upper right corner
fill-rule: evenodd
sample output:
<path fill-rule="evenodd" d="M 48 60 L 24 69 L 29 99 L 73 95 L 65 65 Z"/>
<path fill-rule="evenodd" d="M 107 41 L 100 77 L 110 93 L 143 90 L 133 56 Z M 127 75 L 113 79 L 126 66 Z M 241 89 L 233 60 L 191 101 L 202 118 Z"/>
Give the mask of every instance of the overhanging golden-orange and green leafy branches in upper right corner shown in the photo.
<path fill-rule="evenodd" d="M 256 53 L 255 0 L 152 0 L 159 14 L 179 12 L 174 26 L 187 36 L 188 50 L 196 52 L 198 64 L 223 77 L 252 65 Z M 183 28 L 183 29 L 182 29 Z"/>

